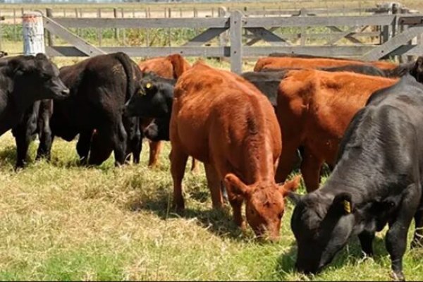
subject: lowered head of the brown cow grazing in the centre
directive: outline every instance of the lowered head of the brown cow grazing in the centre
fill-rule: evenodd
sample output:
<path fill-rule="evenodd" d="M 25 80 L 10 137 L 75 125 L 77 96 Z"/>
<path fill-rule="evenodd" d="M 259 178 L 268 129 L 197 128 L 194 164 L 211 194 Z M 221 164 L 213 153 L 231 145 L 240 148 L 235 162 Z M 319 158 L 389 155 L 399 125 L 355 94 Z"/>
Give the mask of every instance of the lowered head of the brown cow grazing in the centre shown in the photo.
<path fill-rule="evenodd" d="M 283 198 L 288 192 L 298 188 L 300 176 L 283 185 L 278 185 L 273 180 L 245 185 L 233 173 L 228 173 L 224 179 L 226 188 L 231 189 L 230 194 L 244 198 L 247 222 L 257 237 L 277 240 L 285 209 Z"/>

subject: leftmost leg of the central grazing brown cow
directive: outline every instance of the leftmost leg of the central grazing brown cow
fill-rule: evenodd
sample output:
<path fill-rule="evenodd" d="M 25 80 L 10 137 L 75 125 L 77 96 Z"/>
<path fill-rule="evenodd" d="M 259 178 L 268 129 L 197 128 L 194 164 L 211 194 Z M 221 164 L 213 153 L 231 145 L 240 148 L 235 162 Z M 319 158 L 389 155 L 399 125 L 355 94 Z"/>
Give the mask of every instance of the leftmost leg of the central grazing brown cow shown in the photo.
<path fill-rule="evenodd" d="M 182 195 L 182 180 L 185 174 L 188 155 L 180 148 L 173 145 L 170 154 L 171 173 L 173 179 L 173 205 L 177 210 L 185 209 L 185 203 Z"/>

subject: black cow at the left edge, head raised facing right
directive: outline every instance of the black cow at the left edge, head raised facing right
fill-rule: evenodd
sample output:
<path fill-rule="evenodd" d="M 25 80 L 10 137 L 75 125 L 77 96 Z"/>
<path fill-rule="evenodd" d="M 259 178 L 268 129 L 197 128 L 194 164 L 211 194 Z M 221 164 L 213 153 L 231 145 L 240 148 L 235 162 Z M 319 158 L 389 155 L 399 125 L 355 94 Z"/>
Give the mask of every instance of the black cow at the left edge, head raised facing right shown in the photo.
<path fill-rule="evenodd" d="M 3 58 L 0 72 L 0 135 L 13 129 L 16 167 L 20 167 L 37 128 L 38 100 L 63 99 L 69 90 L 59 78 L 59 69 L 44 54 Z"/>

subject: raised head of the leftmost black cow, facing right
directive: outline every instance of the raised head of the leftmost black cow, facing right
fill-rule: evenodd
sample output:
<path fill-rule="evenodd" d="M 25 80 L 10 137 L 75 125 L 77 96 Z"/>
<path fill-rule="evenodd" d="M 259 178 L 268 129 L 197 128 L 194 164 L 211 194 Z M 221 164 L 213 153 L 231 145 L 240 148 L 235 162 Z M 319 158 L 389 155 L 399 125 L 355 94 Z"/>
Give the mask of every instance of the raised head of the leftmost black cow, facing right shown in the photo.
<path fill-rule="evenodd" d="M 10 59 L 8 73 L 15 81 L 15 90 L 25 99 L 63 99 L 69 95 L 59 78 L 59 69 L 44 54 Z"/>

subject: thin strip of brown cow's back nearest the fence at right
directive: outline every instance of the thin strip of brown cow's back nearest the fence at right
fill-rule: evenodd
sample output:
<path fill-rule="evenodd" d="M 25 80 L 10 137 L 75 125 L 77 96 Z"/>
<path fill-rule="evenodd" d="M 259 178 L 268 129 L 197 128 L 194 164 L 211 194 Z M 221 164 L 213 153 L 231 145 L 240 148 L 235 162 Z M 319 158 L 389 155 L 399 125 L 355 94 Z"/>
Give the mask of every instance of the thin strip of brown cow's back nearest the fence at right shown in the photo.
<path fill-rule="evenodd" d="M 264 57 L 257 60 L 254 71 L 262 71 L 269 68 L 326 68 L 347 65 L 372 65 L 381 69 L 396 68 L 396 63 L 386 61 L 354 61 L 349 59 L 323 59 L 323 58 L 300 58 L 300 57 Z"/>

